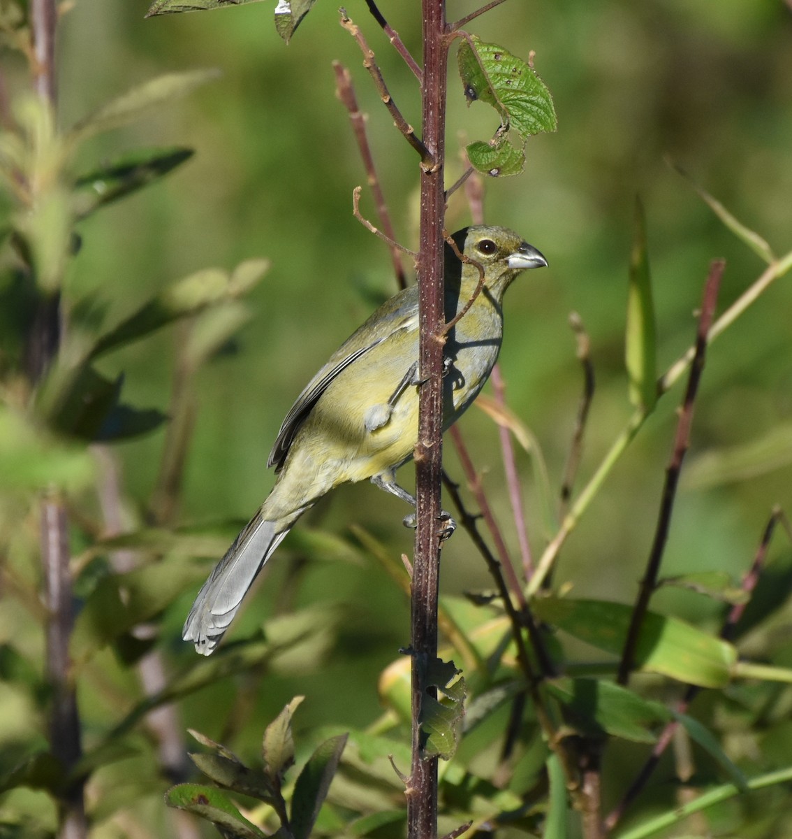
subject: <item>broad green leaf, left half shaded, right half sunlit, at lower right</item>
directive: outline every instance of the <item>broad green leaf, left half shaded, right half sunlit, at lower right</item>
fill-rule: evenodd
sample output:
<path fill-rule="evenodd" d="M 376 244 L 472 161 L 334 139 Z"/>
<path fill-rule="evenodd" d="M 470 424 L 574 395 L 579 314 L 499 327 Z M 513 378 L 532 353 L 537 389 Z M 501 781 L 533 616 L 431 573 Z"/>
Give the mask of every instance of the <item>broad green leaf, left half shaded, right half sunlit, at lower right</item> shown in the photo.
<path fill-rule="evenodd" d="M 538 597 L 536 615 L 565 632 L 620 655 L 632 607 L 602 600 Z M 647 612 L 635 649 L 639 670 L 660 673 L 691 685 L 723 687 L 732 678 L 737 650 L 721 638 L 701 632 L 678 618 Z"/>

